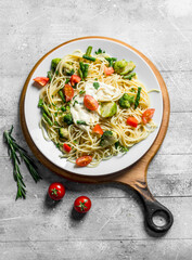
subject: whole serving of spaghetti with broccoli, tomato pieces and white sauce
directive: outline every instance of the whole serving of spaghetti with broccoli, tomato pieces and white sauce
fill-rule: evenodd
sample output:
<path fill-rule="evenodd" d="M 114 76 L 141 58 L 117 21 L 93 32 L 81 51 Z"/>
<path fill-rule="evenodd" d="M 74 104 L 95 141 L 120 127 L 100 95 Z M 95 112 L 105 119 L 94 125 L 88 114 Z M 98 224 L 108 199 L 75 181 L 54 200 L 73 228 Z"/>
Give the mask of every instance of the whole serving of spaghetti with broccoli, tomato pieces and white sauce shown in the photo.
<path fill-rule="evenodd" d="M 44 139 L 79 167 L 127 153 L 156 128 L 135 63 L 91 52 L 88 47 L 53 58 L 48 77 L 34 79 L 43 86 L 38 106 Z"/>

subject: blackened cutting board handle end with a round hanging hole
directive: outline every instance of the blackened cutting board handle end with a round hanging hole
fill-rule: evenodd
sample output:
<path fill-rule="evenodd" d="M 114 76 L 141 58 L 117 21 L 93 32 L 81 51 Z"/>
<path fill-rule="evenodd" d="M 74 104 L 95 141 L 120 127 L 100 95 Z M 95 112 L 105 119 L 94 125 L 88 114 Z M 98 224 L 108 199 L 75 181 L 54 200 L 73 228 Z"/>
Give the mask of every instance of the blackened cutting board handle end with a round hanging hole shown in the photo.
<path fill-rule="evenodd" d="M 148 227 L 156 233 L 167 232 L 174 223 L 172 213 L 153 197 L 148 186 L 137 188 L 137 192 L 144 205 L 144 216 Z M 164 225 L 155 224 L 154 217 L 163 218 L 165 220 Z"/>

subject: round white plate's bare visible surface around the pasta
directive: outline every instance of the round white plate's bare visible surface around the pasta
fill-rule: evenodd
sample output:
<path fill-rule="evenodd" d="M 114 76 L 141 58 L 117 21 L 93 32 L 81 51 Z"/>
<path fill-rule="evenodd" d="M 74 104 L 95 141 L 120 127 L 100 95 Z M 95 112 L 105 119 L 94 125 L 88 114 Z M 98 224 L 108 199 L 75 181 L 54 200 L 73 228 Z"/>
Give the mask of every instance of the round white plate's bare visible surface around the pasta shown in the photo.
<path fill-rule="evenodd" d="M 36 70 L 31 75 L 27 87 L 24 103 L 24 113 L 28 132 L 34 143 L 52 164 L 64 170 L 82 176 L 104 176 L 114 173 L 132 165 L 139 158 L 141 158 L 151 147 L 158 133 L 162 122 L 163 99 L 162 92 L 149 93 L 151 100 L 151 107 L 155 108 L 153 120 L 156 122 L 157 128 L 145 140 L 131 147 L 127 154 L 114 156 L 108 160 L 101 161 L 101 164 L 95 168 L 79 168 L 76 167 L 74 164 L 67 161 L 65 158 L 61 158 L 60 155 L 62 155 L 62 153 L 55 147 L 53 142 L 48 142 L 43 139 L 42 132 L 39 128 L 39 121 L 41 117 L 40 109 L 37 106 L 39 101 L 39 90 L 33 86 L 33 79 L 38 76 L 47 76 L 47 72 L 50 70 L 50 64 L 52 58 L 63 57 L 64 55 L 72 53 L 76 49 L 86 51 L 88 46 L 92 46 L 93 51 L 101 48 L 102 50 L 105 50 L 106 53 L 108 53 L 111 56 L 115 56 L 118 60 L 125 58 L 128 61 L 133 61 L 136 63 L 135 70 L 138 74 L 138 78 L 144 83 L 146 90 L 158 89 L 161 91 L 158 81 L 151 67 L 138 53 L 136 53 L 128 47 L 110 39 L 77 39 L 76 41 L 67 42 L 66 44 L 53 50 L 37 66 Z"/>

